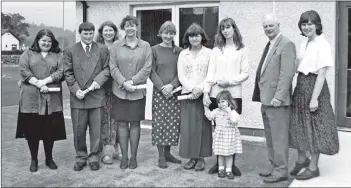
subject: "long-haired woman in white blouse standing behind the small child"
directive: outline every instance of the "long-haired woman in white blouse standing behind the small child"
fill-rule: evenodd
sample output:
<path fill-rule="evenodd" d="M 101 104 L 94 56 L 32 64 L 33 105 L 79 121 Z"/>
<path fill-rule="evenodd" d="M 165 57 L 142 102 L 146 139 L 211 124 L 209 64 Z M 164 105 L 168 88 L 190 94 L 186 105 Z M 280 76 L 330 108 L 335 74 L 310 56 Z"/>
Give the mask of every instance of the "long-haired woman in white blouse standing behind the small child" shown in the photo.
<path fill-rule="evenodd" d="M 203 103 L 210 110 L 218 108 L 216 96 L 223 90 L 230 92 L 234 98 L 238 114 L 242 111 L 241 83 L 249 78 L 248 50 L 244 47 L 238 27 L 232 18 L 224 18 L 218 26 L 216 47 L 213 48 L 206 82 L 204 85 Z M 240 170 L 235 166 L 233 155 L 232 172 L 240 176 Z M 217 163 L 208 171 L 218 172 Z"/>

